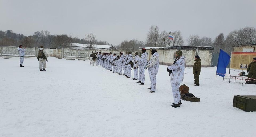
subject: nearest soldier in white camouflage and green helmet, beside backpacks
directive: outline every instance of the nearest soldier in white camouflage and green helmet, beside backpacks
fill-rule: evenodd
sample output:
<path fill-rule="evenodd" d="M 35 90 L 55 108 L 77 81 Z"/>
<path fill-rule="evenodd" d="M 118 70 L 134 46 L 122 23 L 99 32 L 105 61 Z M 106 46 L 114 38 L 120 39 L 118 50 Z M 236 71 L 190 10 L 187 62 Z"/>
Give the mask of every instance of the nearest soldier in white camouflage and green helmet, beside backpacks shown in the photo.
<path fill-rule="evenodd" d="M 182 56 L 182 51 L 178 50 L 175 54 L 176 59 L 173 62 L 172 66 L 167 67 L 167 71 L 171 76 L 171 84 L 172 84 L 172 93 L 174 103 L 172 103 L 172 107 L 180 107 L 181 105 L 181 97 L 179 87 L 181 82 L 184 79 L 184 71 L 185 71 L 185 57 Z"/>

